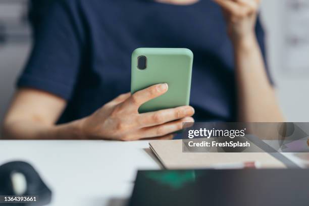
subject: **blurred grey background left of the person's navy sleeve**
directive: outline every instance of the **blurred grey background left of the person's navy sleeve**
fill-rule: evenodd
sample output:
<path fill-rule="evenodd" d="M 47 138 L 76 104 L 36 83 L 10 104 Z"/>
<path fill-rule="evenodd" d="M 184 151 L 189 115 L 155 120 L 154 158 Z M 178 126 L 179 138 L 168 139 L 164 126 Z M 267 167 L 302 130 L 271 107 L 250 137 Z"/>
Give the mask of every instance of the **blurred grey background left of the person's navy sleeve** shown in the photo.
<path fill-rule="evenodd" d="M 28 0 L 0 0 L 0 124 L 31 47 Z"/>

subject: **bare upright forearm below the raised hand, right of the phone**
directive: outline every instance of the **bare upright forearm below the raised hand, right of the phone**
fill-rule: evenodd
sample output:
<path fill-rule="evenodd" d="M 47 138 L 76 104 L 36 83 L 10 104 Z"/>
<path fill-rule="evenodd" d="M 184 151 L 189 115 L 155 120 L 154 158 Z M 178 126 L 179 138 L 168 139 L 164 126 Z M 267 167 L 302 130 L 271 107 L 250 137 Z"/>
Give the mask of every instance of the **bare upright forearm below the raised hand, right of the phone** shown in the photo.
<path fill-rule="evenodd" d="M 233 40 L 238 120 L 241 122 L 283 122 L 275 91 L 268 79 L 255 34 Z"/>

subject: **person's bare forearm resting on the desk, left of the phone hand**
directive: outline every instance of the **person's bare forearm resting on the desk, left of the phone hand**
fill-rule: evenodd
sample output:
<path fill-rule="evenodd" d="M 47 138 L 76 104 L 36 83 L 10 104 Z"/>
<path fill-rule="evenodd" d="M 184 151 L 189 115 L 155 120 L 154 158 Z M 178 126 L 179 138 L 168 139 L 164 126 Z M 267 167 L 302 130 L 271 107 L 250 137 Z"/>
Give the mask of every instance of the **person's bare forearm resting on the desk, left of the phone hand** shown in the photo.
<path fill-rule="evenodd" d="M 3 127 L 4 139 L 82 139 L 81 120 L 47 125 L 29 120 L 7 122 Z"/>

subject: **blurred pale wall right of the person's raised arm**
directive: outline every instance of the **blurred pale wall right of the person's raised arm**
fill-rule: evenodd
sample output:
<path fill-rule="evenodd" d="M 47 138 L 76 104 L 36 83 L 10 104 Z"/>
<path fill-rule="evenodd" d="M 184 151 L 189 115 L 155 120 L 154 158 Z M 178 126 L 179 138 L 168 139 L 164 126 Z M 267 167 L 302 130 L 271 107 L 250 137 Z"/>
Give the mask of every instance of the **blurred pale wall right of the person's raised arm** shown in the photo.
<path fill-rule="evenodd" d="M 276 83 L 281 108 L 289 122 L 309 122 L 309 65 L 304 71 L 286 71 L 283 33 L 290 27 L 284 8 L 287 2 L 309 5 L 308 0 L 262 0 L 262 21 L 267 32 L 268 64 Z M 309 28 L 309 22 L 305 25 Z M 309 34 L 308 34 L 309 37 Z M 309 52 L 301 54 L 309 59 Z M 297 64 L 297 62 L 295 63 Z M 306 70 L 306 71 L 305 71 Z"/>

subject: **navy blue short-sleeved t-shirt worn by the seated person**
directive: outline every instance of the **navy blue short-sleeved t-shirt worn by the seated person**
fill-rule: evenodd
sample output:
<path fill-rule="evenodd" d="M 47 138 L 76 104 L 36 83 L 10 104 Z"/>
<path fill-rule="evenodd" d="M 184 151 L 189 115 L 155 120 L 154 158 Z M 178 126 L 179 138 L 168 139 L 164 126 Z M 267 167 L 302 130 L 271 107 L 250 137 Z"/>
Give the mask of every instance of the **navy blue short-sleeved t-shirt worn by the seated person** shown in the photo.
<path fill-rule="evenodd" d="M 256 35 L 265 56 L 260 22 Z M 38 26 L 18 80 L 68 101 L 59 122 L 90 115 L 130 91 L 131 53 L 138 47 L 185 47 L 194 54 L 190 105 L 196 121 L 236 121 L 231 41 L 219 6 L 147 0 L 54 1 Z"/>

